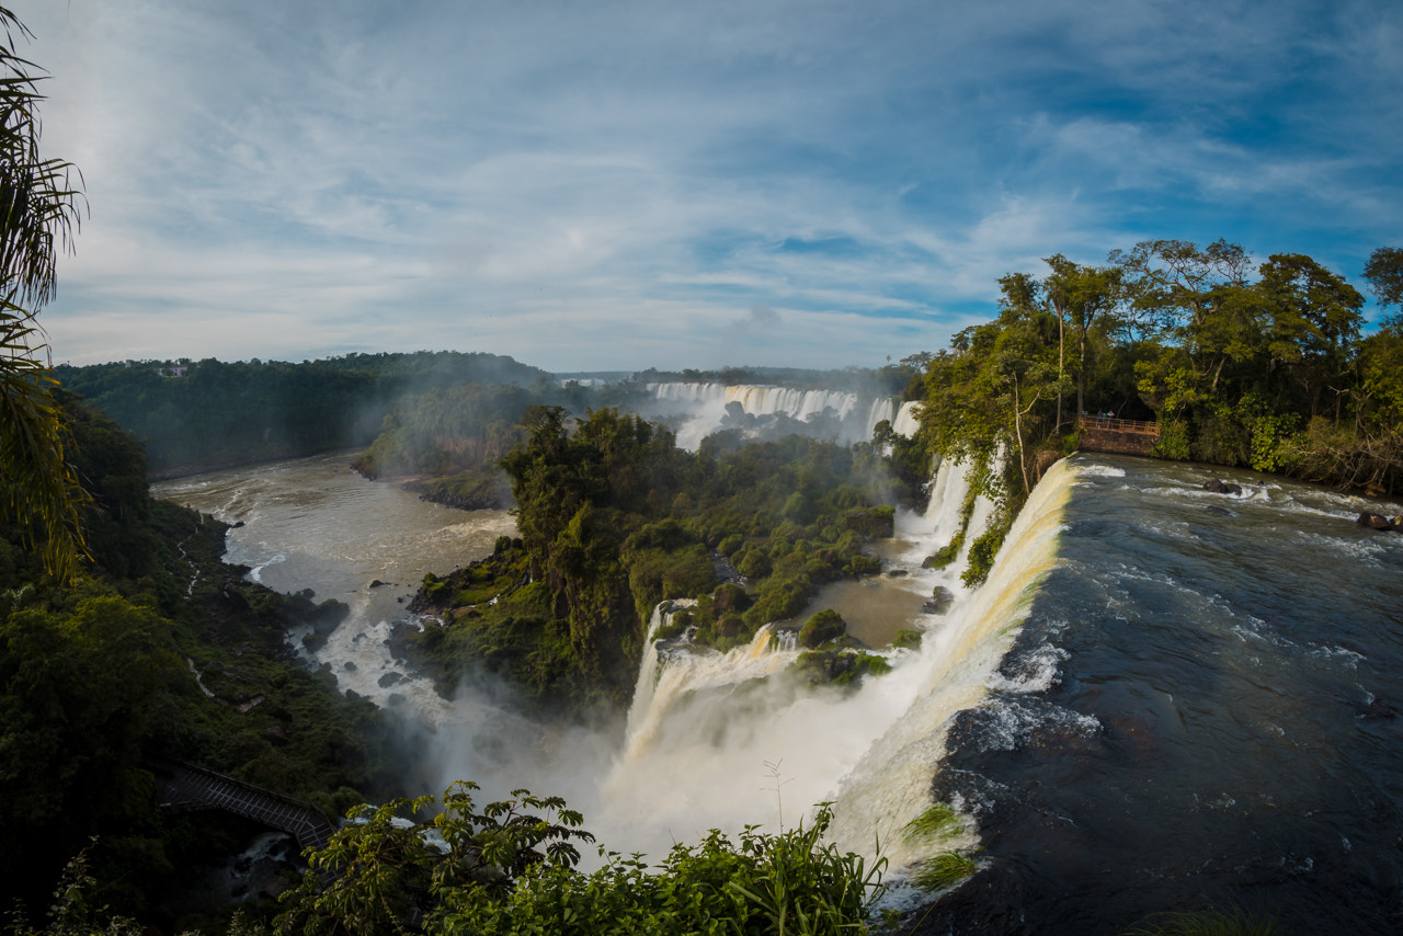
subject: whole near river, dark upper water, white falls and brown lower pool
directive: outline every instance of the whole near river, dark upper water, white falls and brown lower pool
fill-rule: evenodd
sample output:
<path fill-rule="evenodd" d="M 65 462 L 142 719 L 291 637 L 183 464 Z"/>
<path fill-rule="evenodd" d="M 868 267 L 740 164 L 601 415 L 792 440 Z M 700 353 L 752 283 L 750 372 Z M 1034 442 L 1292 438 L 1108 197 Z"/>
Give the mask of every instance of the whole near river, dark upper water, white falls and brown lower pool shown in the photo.
<path fill-rule="evenodd" d="M 1076 456 L 967 592 L 962 563 L 920 568 L 965 498 L 943 466 L 930 509 L 899 514 L 881 544 L 905 575 L 819 599 L 874 646 L 925 631 L 919 651 L 885 651 L 891 674 L 843 695 L 781 676 L 796 651 L 763 636 L 727 655 L 662 644 L 627 724 L 586 731 L 526 723 L 501 688 L 445 702 L 407 672 L 379 685 L 404 672 L 380 646 L 396 598 L 488 551 L 511 518 L 419 504 L 344 462 L 157 493 L 247 521 L 229 559 L 269 585 L 352 603 L 317 661 L 424 731 L 412 772 L 429 783 L 561 793 L 612 849 L 655 857 L 832 800 L 839 843 L 880 839 L 894 867 L 979 849 L 930 933 L 1113 933 L 1209 905 L 1275 914 L 1287 933 L 1403 928 L 1403 537 L 1352 522 L 1396 504 L 1249 473 L 1225 474 L 1240 497 L 1214 495 L 1190 466 Z M 975 530 L 988 514 L 981 501 Z M 953 595 L 941 613 L 923 608 L 936 585 Z M 934 801 L 965 831 L 911 839 Z"/>

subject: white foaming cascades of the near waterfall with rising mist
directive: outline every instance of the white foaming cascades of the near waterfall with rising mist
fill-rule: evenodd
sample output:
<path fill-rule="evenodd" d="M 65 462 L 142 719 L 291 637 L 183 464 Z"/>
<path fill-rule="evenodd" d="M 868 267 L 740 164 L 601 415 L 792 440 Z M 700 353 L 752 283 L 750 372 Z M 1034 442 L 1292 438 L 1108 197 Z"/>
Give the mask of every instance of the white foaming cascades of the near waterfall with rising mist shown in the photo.
<path fill-rule="evenodd" d="M 661 855 L 672 842 L 694 841 L 710 828 L 790 827 L 814 804 L 836 798 L 835 835 L 843 848 L 870 855 L 880 836 L 882 852 L 897 859 L 894 866 L 920 857 L 894 839 L 929 805 L 941 726 L 978 700 L 1012 640 L 1009 602 L 1028 581 L 1019 570 L 1051 561 L 1051 551 L 1038 551 L 1044 539 L 1033 535 L 1035 556 L 1019 547 L 1000 557 L 976 592 L 960 584 L 964 554 L 944 570 L 920 570 L 920 559 L 958 529 L 968 487 L 967 466 L 943 464 L 926 514 L 899 515 L 897 536 L 908 546 L 892 561 L 915 568 L 873 587 L 929 596 L 940 585 L 954 601 L 944 615 L 909 622 L 926 631 L 922 648 L 882 651 L 892 672 L 866 679 L 854 693 L 780 676 L 798 653 L 793 644 L 774 647 L 765 630 L 728 654 L 673 648 L 659 657 L 650 646 L 623 752 L 602 787 L 596 825 L 610 832 L 600 838 Z M 1063 480 L 1049 479 L 1040 491 L 1054 488 L 1065 488 Z M 1023 542 L 1019 536 L 1034 522 L 1030 518 L 1055 509 L 1044 501 L 1035 497 L 1028 504 L 1009 543 Z M 967 547 L 991 512 L 992 505 L 976 498 Z M 650 636 L 662 620 L 655 612 Z M 881 770 L 895 766 L 871 766 L 888 748 L 901 758 L 890 787 Z"/>

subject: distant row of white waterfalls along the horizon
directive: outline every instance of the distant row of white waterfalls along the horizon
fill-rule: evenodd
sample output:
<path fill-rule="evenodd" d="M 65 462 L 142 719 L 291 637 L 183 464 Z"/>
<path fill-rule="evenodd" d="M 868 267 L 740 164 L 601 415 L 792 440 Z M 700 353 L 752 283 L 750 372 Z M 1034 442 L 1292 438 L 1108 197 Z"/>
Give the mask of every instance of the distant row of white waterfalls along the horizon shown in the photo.
<path fill-rule="evenodd" d="M 906 436 L 915 435 L 918 428 L 916 404 L 902 403 L 892 396 L 748 383 L 650 383 L 647 387 L 665 413 L 671 410 L 682 417 L 678 445 L 689 450 L 696 450 L 702 439 L 723 428 L 739 428 L 758 435 L 772 425 L 779 431 L 807 427 L 815 435 L 847 443 L 871 439 L 873 429 L 882 420 Z M 731 404 L 738 404 L 741 414 Z M 784 421 L 803 427 L 791 427 Z"/>

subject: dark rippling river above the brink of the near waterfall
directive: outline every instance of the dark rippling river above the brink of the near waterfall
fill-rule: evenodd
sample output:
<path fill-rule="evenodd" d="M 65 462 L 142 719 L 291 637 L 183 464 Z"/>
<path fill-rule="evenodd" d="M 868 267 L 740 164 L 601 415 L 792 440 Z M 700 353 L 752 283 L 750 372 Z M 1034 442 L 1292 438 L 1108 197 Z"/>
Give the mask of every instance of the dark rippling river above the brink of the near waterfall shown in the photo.
<path fill-rule="evenodd" d="M 923 932 L 1205 907 L 1403 932 L 1403 537 L 1354 523 L 1400 505 L 1075 460 L 1058 561 L 936 783 L 988 869 Z M 1040 692 L 999 686 L 1037 672 Z"/>

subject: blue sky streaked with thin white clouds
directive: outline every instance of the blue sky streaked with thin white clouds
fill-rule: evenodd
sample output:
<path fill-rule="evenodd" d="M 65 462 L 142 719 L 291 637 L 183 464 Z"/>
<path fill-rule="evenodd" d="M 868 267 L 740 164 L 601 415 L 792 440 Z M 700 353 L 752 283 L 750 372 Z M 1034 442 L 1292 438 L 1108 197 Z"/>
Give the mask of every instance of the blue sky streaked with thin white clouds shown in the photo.
<path fill-rule="evenodd" d="M 8 6 L 55 362 L 880 366 L 1056 253 L 1403 246 L 1396 0 Z"/>

